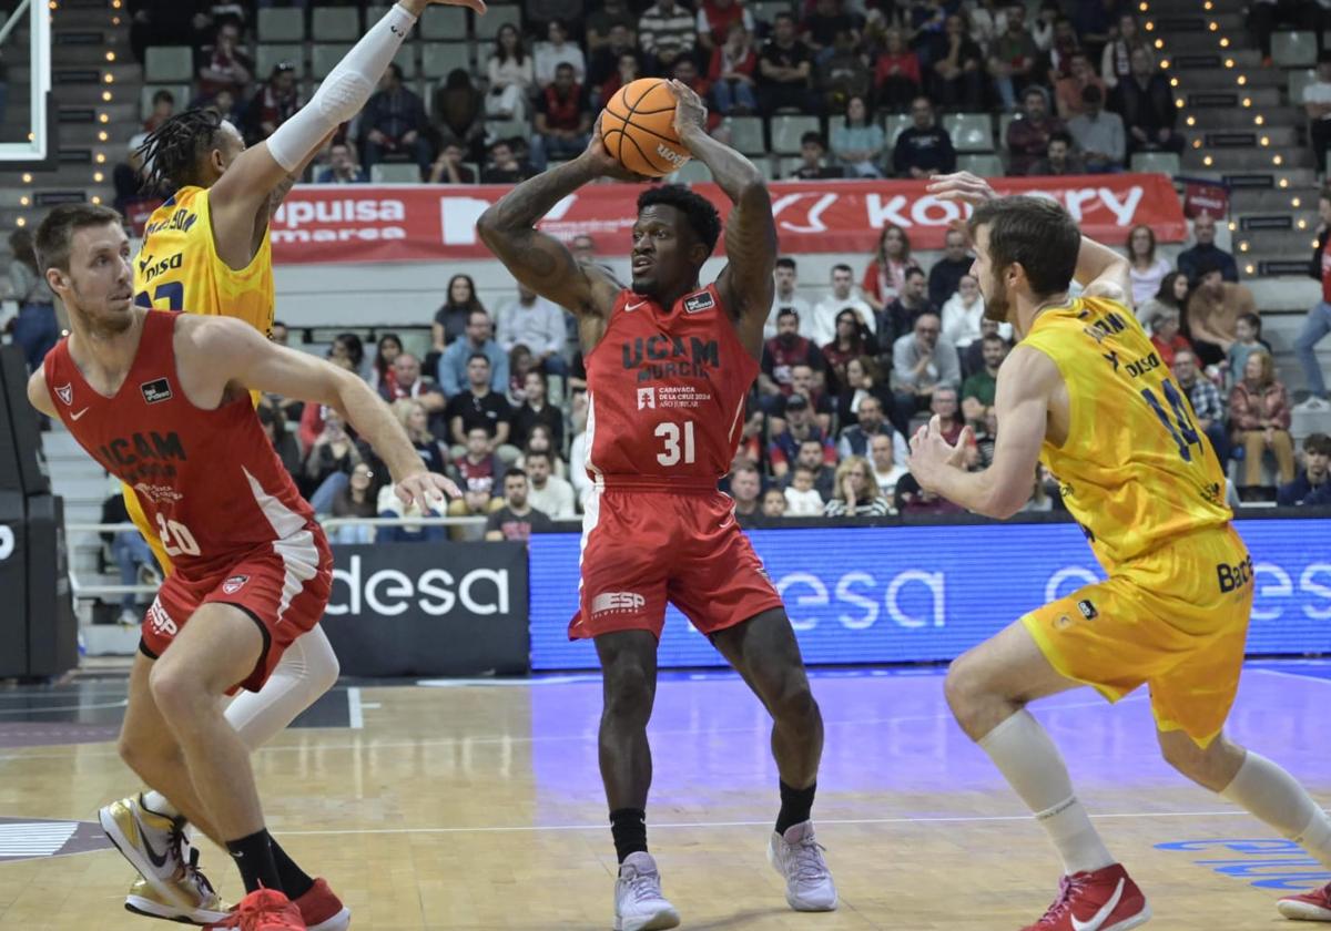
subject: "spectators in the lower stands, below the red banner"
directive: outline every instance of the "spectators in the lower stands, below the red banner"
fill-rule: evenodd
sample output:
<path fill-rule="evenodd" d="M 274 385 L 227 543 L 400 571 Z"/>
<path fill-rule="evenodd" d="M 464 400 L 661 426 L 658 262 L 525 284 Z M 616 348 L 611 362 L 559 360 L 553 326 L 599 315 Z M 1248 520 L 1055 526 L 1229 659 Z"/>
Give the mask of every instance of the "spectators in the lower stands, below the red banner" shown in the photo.
<path fill-rule="evenodd" d="M 1260 315 L 1251 291 L 1225 279 L 1230 257 L 1213 234 L 1203 218 L 1197 242 L 1179 255 L 1190 277 L 1159 257 L 1149 227 L 1131 230 L 1123 253 L 1135 314 L 1159 364 L 1191 402 L 1195 442 L 1209 443 L 1226 464 L 1242 460 L 1236 499 L 1331 504 L 1331 439 L 1312 434 L 1302 456 L 1295 450 L 1292 400 L 1262 339 Z M 576 250 L 595 261 L 590 237 L 579 237 Z M 993 459 L 997 374 L 1013 332 L 984 317 L 972 261 L 965 235 L 952 231 L 925 269 L 906 233 L 888 226 L 862 271 L 837 263 L 825 295 L 811 303 L 800 293 L 796 259 L 779 259 L 761 371 L 721 484 L 744 524 L 957 511 L 924 492 L 905 462 L 910 432 L 933 415 L 949 442 L 972 428 L 972 468 Z M 480 521 L 347 524 L 335 525 L 338 540 L 523 539 L 551 520 L 578 517 L 591 492 L 579 467 L 587 458 L 588 404 L 572 317 L 516 285 L 491 313 L 465 274 L 453 275 L 445 294 L 419 358 L 393 332 L 379 332 L 373 346 L 341 334 L 329 358 L 363 375 L 430 468 L 463 489 L 433 516 L 484 519 L 483 529 Z M 289 339 L 286 327 L 276 327 L 274 338 Z M 403 513 L 382 464 L 335 414 L 265 398 L 261 418 L 318 513 L 431 516 Z M 1061 507 L 1053 476 L 1033 475 L 1028 509 Z"/>

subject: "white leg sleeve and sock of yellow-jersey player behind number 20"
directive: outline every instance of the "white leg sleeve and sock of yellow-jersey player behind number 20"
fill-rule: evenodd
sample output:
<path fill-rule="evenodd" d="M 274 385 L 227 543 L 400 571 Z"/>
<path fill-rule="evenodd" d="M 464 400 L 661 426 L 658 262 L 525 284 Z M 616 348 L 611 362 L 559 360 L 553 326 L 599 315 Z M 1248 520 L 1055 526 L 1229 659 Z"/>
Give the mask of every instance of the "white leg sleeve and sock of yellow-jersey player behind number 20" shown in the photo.
<path fill-rule="evenodd" d="M 323 628 L 315 626 L 286 648 L 273 674 L 258 692 L 241 692 L 226 706 L 226 721 L 252 751 L 282 733 L 295 716 L 337 684 L 339 666 Z M 180 811 L 160 791 L 144 793 L 149 811 L 178 818 Z M 193 837 L 193 830 L 190 830 Z"/>

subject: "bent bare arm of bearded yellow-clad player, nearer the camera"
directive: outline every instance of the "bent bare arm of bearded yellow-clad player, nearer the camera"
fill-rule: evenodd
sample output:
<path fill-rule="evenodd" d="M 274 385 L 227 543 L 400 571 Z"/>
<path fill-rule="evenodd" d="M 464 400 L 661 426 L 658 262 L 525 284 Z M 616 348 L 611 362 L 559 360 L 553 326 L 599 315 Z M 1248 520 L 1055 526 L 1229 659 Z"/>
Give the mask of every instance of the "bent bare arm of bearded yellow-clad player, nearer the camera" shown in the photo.
<path fill-rule="evenodd" d="M 910 438 L 910 473 L 932 491 L 986 517 L 1006 519 L 1030 497 L 1049 423 L 1049 400 L 1062 387 L 1058 366 L 1040 350 L 1017 346 L 998 370 L 994 412 L 998 440 L 993 464 L 968 472 L 962 458 L 972 442 L 966 427 L 956 446 L 948 446 L 934 416 Z"/>

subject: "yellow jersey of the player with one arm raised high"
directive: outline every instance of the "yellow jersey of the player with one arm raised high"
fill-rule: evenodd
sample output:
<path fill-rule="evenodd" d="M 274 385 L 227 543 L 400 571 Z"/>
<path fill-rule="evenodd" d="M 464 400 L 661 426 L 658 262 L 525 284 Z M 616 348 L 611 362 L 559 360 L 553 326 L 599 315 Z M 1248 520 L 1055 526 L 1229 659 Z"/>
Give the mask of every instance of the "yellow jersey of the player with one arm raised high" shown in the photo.
<path fill-rule="evenodd" d="M 273 332 L 273 243 L 269 231 L 244 269 L 217 257 L 208 189 L 181 188 L 148 218 L 134 259 L 134 303 L 245 321 Z"/>

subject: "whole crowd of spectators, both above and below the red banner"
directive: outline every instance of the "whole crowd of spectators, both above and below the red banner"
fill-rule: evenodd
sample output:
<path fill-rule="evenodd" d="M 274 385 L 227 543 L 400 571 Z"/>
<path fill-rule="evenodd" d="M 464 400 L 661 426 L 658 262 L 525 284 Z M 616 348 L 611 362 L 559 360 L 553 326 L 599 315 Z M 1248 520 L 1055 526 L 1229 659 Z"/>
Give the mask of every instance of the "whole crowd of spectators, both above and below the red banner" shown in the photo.
<path fill-rule="evenodd" d="M 253 3 L 218 3 L 212 12 L 154 0 L 130 7 L 140 56 L 148 44 L 181 36 L 197 48 L 194 98 L 160 92 L 145 132 L 176 108 L 201 105 L 256 142 L 303 102 L 291 63 L 256 73 Z M 801 0 L 764 19 L 740 0 L 532 1 L 522 27 L 498 29 L 478 74 L 459 68 L 426 88 L 390 68 L 313 177 L 362 184 L 370 166 L 397 161 L 429 182 L 516 182 L 576 156 L 598 109 L 642 76 L 693 86 L 719 136 L 727 117 L 824 117 L 827 132 L 803 137 L 792 177 L 954 170 L 957 150 L 940 113 L 957 112 L 1013 114 L 1002 133 L 1009 174 L 1118 172 L 1133 153 L 1185 145 L 1174 94 L 1134 7 L 1045 0 L 1030 15 L 1028 4 L 1001 0 Z M 1308 93 L 1314 142 L 1326 148 L 1331 55 Z M 897 113 L 909 124 L 888 138 L 881 117 Z M 122 198 L 134 196 L 137 168 L 130 158 L 117 169 Z M 1331 200 L 1322 210 L 1311 274 L 1324 282 L 1326 301 L 1298 343 L 1312 404 L 1327 395 L 1312 346 L 1331 332 L 1331 262 L 1322 247 Z M 1238 497 L 1331 503 L 1331 440 L 1314 434 L 1295 450 L 1292 402 L 1262 338 L 1259 309 L 1215 231 L 1214 218 L 1198 217 L 1195 241 L 1171 263 L 1149 227 L 1133 229 L 1122 247 L 1134 311 L 1190 398 L 1197 431 L 1226 464 L 1242 459 Z M 591 237 L 571 246 L 579 259 L 595 259 Z M 993 458 L 996 376 L 1013 334 L 985 319 L 970 267 L 962 233 L 949 233 L 942 255 L 925 267 L 893 225 L 872 254 L 837 263 L 819 299 L 801 294 L 793 258 L 777 262 L 761 374 L 723 481 L 743 523 L 956 511 L 918 487 L 905 459 L 910 431 L 933 415 L 952 439 L 972 427 L 973 468 Z M 471 278 L 455 274 L 419 354 L 393 332 L 377 332 L 370 346 L 339 335 L 330 358 L 362 374 L 430 467 L 463 489 L 439 513 L 484 519 L 484 529 L 345 524 L 337 539 L 520 539 L 576 517 L 591 485 L 582 468 L 586 371 L 571 319 L 516 285 L 487 307 Z M 274 338 L 285 340 L 285 327 Z M 383 466 L 334 414 L 268 398 L 261 416 L 321 515 L 422 516 L 402 512 Z M 1061 508 L 1053 476 L 1032 476 L 1028 508 Z"/>

